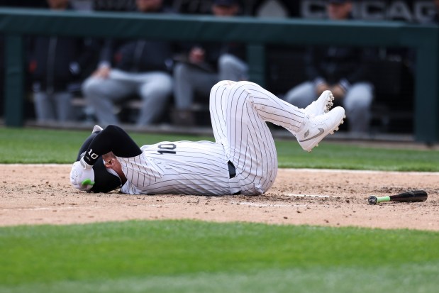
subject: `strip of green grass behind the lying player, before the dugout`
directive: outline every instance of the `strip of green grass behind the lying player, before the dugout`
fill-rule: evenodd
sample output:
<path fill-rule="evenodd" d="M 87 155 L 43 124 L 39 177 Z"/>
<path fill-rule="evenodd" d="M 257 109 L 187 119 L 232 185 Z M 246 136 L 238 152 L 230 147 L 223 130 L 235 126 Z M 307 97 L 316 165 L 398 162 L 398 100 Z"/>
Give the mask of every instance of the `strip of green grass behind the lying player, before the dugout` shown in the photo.
<path fill-rule="evenodd" d="M 89 131 L 0 128 L 0 163 L 70 163 Z M 213 137 L 132 133 L 139 145 L 163 140 Z M 279 167 L 439 172 L 438 150 L 391 150 L 326 143 L 306 153 L 298 143 L 278 140 Z"/>

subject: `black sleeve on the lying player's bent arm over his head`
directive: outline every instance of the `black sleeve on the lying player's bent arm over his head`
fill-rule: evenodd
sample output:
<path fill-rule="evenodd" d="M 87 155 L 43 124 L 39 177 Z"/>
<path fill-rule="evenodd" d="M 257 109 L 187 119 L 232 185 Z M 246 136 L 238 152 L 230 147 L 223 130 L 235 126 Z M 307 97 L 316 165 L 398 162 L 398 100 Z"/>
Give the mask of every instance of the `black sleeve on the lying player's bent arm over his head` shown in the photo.
<path fill-rule="evenodd" d="M 94 165 L 98 157 L 110 152 L 117 157 L 135 157 L 140 155 L 142 150 L 126 131 L 119 126 L 109 125 L 91 141 L 84 155 L 84 161 Z"/>

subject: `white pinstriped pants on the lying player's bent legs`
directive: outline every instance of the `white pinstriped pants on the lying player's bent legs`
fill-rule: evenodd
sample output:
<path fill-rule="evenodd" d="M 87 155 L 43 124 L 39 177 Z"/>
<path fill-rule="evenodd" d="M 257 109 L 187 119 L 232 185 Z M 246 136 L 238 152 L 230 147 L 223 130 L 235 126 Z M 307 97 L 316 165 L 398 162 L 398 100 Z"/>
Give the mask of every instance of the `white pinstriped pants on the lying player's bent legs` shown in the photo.
<path fill-rule="evenodd" d="M 277 152 L 266 121 L 299 131 L 304 111 L 252 82 L 218 82 L 211 89 L 213 134 L 236 167 L 241 194 L 262 194 L 277 175 Z"/>

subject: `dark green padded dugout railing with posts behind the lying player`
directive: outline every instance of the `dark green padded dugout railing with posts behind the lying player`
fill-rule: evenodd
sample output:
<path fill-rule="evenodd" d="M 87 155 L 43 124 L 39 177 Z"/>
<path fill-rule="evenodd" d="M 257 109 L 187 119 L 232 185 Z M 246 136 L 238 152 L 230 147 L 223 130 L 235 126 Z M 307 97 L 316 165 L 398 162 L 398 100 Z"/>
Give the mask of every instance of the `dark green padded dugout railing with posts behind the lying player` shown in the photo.
<path fill-rule="evenodd" d="M 81 13 L 0 9 L 5 40 L 5 124 L 23 125 L 24 36 L 234 41 L 247 45 L 250 80 L 265 85 L 267 45 L 355 45 L 413 48 L 413 130 L 418 142 L 439 142 L 439 27 L 394 21 L 311 21 L 254 17 Z"/>

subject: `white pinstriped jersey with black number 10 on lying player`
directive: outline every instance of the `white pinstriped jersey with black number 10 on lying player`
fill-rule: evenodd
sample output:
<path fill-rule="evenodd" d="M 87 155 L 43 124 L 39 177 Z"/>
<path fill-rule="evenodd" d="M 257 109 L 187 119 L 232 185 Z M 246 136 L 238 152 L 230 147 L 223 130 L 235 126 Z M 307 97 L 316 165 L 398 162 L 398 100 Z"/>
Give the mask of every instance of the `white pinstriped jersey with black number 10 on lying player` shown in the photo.
<path fill-rule="evenodd" d="M 211 141 L 143 145 L 137 157 L 118 157 L 126 194 L 230 194 L 223 145 Z"/>

